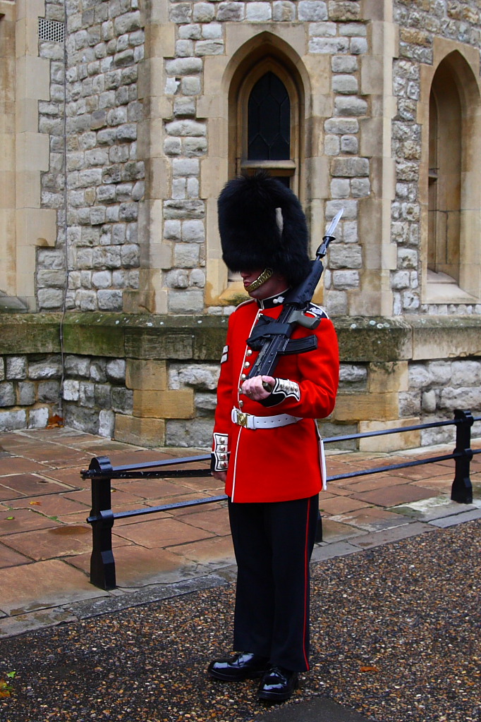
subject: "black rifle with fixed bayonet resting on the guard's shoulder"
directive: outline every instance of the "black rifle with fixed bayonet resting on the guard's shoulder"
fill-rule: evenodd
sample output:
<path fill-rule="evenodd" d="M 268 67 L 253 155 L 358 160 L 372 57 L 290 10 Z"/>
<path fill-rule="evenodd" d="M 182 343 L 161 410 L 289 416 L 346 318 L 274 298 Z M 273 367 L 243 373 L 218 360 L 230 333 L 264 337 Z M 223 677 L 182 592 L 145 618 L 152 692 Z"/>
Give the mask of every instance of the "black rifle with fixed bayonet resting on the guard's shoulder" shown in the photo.
<path fill-rule="evenodd" d="M 326 235 L 323 236 L 322 243 L 316 251 L 316 258 L 311 261 L 311 272 L 308 277 L 297 288 L 287 293 L 279 318 L 261 316 L 254 326 L 251 336 L 247 339 L 247 344 L 254 351 L 259 351 L 259 355 L 247 378 L 272 376 L 281 356 L 303 354 L 317 348 L 315 335 L 305 336 L 302 339 L 291 339 L 290 336 L 297 324 L 305 329 L 313 330 L 317 329 L 321 323 L 320 318 L 306 316 L 306 310 L 321 279 L 322 271 L 324 271 L 321 258 L 324 258 L 329 243 L 334 240 L 332 234 L 343 210 L 341 209 L 336 214 Z"/>

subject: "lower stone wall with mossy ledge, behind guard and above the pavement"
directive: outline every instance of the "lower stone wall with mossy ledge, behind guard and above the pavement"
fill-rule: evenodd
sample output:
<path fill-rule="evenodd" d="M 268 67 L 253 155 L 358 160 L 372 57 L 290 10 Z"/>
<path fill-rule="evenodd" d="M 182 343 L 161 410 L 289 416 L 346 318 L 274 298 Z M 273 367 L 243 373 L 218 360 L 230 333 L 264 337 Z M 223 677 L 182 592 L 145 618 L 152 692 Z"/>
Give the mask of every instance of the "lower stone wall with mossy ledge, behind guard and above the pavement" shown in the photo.
<path fill-rule="evenodd" d="M 452 419 L 458 408 L 481 413 L 480 319 L 426 321 L 336 321 L 341 383 L 333 414 L 320 422 L 324 437 Z M 209 447 L 227 318 L 68 314 L 63 377 L 59 323 L 53 313 L 0 316 L 0 430 L 44 427 L 55 414 L 128 443 Z M 470 349 L 467 357 L 459 349 Z M 454 427 L 441 427 L 364 439 L 360 448 L 453 438 Z"/>

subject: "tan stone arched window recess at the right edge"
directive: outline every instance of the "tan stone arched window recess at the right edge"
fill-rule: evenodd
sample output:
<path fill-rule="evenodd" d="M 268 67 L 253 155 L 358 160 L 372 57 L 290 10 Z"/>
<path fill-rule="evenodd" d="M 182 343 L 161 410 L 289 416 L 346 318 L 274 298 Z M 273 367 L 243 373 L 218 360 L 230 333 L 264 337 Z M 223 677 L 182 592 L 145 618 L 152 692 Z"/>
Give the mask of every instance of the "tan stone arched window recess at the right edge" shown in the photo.
<path fill-rule="evenodd" d="M 480 113 L 472 69 L 461 53 L 449 53 L 431 79 L 426 124 L 428 303 L 479 303 Z"/>

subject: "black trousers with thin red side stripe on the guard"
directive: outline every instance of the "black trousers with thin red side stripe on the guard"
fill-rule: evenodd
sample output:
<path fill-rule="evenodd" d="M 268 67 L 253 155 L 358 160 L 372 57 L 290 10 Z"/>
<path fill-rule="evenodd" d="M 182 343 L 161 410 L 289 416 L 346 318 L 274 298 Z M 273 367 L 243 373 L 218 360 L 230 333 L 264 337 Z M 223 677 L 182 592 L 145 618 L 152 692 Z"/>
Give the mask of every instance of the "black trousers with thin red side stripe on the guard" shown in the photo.
<path fill-rule="evenodd" d="M 294 501 L 229 502 L 238 565 L 234 649 L 291 671 L 309 669 L 309 561 L 319 495 Z"/>

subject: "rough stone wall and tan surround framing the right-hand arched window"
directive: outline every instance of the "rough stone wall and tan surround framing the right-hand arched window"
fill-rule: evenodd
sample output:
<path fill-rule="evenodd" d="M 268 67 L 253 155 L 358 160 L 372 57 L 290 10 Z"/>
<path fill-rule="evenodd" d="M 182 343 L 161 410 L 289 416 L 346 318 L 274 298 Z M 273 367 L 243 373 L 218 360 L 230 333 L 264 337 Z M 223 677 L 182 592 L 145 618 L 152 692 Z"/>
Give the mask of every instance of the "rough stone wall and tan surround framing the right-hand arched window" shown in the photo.
<path fill-rule="evenodd" d="M 467 51 L 472 49 L 475 58 L 472 70 L 479 75 L 476 62 L 481 49 L 480 6 L 476 0 L 438 0 L 429 4 L 423 0 L 394 0 L 394 22 L 399 27 L 399 56 L 393 62 L 397 113 L 392 121 L 396 193 L 391 206 L 391 238 L 397 243 L 397 268 L 391 271 L 394 292 L 392 313 L 480 314 L 481 304 L 474 299 L 450 303 L 447 296 L 444 303 L 423 301 L 423 283 L 426 283 L 423 266 L 427 250 L 423 248 L 421 238 L 422 194 L 423 184 L 427 188 L 428 180 L 428 150 L 423 149 L 423 144 L 427 144 L 428 137 L 426 131 L 423 136 L 423 124 L 420 122 L 423 95 L 423 102 L 429 103 L 429 87 L 423 87 L 422 66 L 432 67 L 438 62 L 436 42 L 441 40 L 443 43 L 443 55 L 458 51 L 466 56 Z M 462 96 L 464 89 L 460 87 L 459 92 Z M 427 230 L 424 232 L 427 235 Z M 479 274 L 477 255 L 464 258 L 462 262 L 475 264 Z"/>

